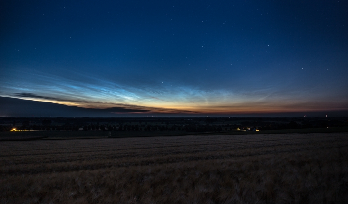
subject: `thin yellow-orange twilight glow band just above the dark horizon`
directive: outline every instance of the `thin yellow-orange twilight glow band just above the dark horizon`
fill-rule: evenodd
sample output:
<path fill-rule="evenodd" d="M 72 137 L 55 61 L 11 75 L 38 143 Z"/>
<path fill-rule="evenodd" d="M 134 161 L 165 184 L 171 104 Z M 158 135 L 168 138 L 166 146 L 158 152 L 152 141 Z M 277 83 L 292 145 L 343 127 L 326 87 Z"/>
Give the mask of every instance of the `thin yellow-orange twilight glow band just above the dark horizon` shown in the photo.
<path fill-rule="evenodd" d="M 22 98 L 23 99 L 23 98 Z M 47 99 L 32 99 L 24 98 L 25 100 L 38 102 L 51 102 L 67 106 L 76 106 L 81 108 L 92 109 L 111 109 L 124 108 L 131 109 L 132 112 L 113 112 L 115 114 L 188 114 L 188 115 L 263 115 L 263 114 L 277 114 L 277 113 L 295 113 L 295 112 L 321 112 L 321 111 L 341 111 L 347 110 L 344 104 L 331 102 L 318 102 L 315 104 L 306 102 L 218 102 L 211 101 L 207 103 L 198 102 L 134 102 L 129 104 L 116 102 L 65 102 Z M 323 107 L 335 108 L 323 108 Z M 137 111 L 139 110 L 139 111 Z"/>

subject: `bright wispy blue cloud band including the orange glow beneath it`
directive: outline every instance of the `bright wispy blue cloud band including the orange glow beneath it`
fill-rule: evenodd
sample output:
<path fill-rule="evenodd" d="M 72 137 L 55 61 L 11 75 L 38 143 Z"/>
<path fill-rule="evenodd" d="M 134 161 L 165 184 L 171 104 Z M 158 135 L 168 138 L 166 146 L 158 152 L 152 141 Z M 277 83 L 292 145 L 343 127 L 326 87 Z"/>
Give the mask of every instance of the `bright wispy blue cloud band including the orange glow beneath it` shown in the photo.
<path fill-rule="evenodd" d="M 35 72 L 26 70 L 25 72 Z M 316 89 L 299 90 L 288 86 L 276 87 L 270 83 L 259 87 L 241 87 L 204 90 L 200 86 L 183 86 L 172 82 L 151 80 L 144 84 L 134 82 L 116 83 L 101 77 L 91 77 L 71 72 L 74 77 L 62 77 L 49 73 L 30 77 L 24 71 L 2 82 L 1 96 L 55 102 L 87 108 L 129 108 L 149 112 L 204 113 L 204 112 L 247 112 L 249 110 L 275 111 L 281 109 L 323 109 L 310 105 L 320 94 Z M 35 72 L 36 73 L 36 72 Z M 38 82 L 39 81 L 39 82 Z M 310 95 L 310 100 L 308 95 Z M 307 96 L 307 97 L 306 97 Z M 309 101 L 310 102 L 309 102 Z M 329 104 L 322 101 L 321 105 Z M 345 102 L 331 102 L 331 106 L 343 108 Z M 140 113 L 139 112 L 139 113 Z"/>

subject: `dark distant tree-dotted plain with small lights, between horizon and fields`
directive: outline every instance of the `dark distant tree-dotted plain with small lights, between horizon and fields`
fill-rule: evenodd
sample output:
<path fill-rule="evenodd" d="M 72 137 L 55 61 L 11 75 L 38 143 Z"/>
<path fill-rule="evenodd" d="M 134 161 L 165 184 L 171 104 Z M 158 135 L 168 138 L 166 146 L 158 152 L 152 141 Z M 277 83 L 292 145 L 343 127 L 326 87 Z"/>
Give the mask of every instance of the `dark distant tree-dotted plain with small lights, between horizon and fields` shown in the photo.
<path fill-rule="evenodd" d="M 238 123 L 238 124 L 232 124 Z M 3 125 L 6 124 L 6 125 Z M 111 125 L 110 125 L 111 124 Z M 105 130 L 188 131 L 280 130 L 348 126 L 347 118 L 307 117 L 149 117 L 149 118 L 0 118 L 0 131 Z"/>

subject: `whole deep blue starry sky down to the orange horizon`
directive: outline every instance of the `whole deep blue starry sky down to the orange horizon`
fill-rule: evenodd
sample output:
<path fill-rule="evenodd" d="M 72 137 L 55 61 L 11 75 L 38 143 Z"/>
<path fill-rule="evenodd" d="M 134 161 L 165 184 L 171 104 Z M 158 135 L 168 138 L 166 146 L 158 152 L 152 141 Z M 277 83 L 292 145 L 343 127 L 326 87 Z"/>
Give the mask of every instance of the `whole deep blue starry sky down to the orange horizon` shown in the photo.
<path fill-rule="evenodd" d="M 91 116 L 348 114 L 348 1 L 0 5 L 0 116 L 7 98 Z"/>

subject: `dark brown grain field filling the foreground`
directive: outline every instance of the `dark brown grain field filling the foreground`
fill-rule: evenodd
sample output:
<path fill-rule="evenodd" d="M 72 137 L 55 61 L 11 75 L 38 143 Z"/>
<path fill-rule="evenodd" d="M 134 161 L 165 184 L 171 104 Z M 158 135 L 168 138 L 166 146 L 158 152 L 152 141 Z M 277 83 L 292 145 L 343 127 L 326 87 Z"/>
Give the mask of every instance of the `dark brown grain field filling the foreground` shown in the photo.
<path fill-rule="evenodd" d="M 348 203 L 348 133 L 0 142 L 1 204 Z"/>

